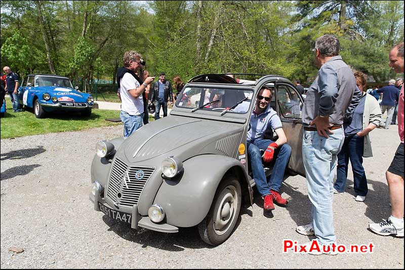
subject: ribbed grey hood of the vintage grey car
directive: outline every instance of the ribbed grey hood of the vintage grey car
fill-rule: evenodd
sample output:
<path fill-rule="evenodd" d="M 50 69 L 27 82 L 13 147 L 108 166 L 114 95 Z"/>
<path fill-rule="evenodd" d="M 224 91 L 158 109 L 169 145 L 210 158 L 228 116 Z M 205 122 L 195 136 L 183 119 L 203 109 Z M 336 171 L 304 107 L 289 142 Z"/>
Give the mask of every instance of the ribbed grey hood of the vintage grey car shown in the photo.
<path fill-rule="evenodd" d="M 169 116 L 153 121 L 129 136 L 118 151 L 129 162 L 140 162 L 167 153 L 182 152 L 182 159 L 197 155 L 210 143 L 242 131 L 243 125 L 212 120 Z"/>

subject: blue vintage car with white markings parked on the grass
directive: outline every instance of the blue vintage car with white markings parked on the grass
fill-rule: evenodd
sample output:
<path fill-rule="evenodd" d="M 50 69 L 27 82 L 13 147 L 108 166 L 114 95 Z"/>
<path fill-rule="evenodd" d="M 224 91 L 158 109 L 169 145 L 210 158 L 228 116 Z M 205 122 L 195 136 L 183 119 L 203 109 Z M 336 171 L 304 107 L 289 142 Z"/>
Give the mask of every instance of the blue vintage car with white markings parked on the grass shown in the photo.
<path fill-rule="evenodd" d="M 69 78 L 52 74 L 29 74 L 19 88 L 20 104 L 33 108 L 36 118 L 55 110 L 92 113 L 94 97 L 77 91 Z"/>

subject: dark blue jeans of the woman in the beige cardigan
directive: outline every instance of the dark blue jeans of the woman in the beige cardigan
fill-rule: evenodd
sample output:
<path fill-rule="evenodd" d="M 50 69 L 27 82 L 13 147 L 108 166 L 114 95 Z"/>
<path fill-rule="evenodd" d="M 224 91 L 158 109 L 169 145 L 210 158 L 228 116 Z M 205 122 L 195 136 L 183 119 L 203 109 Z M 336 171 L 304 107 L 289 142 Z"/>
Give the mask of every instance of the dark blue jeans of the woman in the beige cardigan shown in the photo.
<path fill-rule="evenodd" d="M 346 137 L 342 150 L 338 155 L 338 177 L 335 188 L 340 192 L 345 190 L 349 159 L 353 171 L 354 192 L 356 195 L 366 196 L 367 187 L 366 172 L 363 168 L 364 137 L 357 135 Z"/>

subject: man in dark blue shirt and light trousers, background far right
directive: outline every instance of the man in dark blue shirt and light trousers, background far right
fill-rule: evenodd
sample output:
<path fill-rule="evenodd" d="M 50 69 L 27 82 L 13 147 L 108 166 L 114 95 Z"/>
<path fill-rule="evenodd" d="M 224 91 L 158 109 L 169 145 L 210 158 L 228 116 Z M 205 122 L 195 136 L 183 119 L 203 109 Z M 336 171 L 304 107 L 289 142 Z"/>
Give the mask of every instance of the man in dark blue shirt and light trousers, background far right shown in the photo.
<path fill-rule="evenodd" d="M 398 102 L 399 98 L 399 91 L 395 87 L 395 80 L 391 79 L 388 82 L 388 86 L 385 86 L 381 89 L 377 90 L 377 93 L 383 93 L 383 100 L 380 103 L 381 112 L 384 115 L 384 112 L 387 111 L 387 118 L 385 120 L 385 124 L 381 122 L 380 127 L 384 129 L 389 129 L 389 125 L 391 124 L 392 115 L 394 114 L 395 110 L 395 103 Z"/>

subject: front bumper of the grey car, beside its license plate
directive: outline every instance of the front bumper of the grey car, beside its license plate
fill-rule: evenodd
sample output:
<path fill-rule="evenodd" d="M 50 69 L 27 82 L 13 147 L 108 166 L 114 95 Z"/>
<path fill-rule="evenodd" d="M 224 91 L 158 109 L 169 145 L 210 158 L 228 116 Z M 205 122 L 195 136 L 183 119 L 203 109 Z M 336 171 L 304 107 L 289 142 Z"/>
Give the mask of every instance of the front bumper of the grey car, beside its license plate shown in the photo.
<path fill-rule="evenodd" d="M 108 208 L 112 208 L 108 205 L 103 198 L 101 198 L 100 192 L 96 190 L 95 196 L 93 196 L 92 192 L 89 195 L 90 201 L 94 205 L 94 210 L 101 211 L 98 203 L 105 205 Z M 164 222 L 154 223 L 150 220 L 148 216 L 141 216 L 138 212 L 138 205 L 134 205 L 131 209 L 132 219 L 131 219 L 131 228 L 138 229 L 139 227 L 143 227 L 145 229 L 155 230 L 156 232 L 161 233 L 178 233 L 179 228 L 170 224 L 166 224 Z"/>

